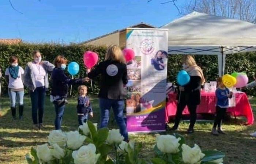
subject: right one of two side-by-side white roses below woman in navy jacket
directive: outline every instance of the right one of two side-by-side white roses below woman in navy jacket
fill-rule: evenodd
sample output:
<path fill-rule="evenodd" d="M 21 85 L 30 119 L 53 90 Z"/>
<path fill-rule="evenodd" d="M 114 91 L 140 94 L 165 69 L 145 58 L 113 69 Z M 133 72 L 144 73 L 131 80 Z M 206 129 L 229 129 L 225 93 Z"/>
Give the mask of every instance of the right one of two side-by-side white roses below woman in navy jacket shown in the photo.
<path fill-rule="evenodd" d="M 79 134 L 78 131 L 67 132 L 67 146 L 69 149 L 76 150 L 83 145 L 86 136 Z"/>

